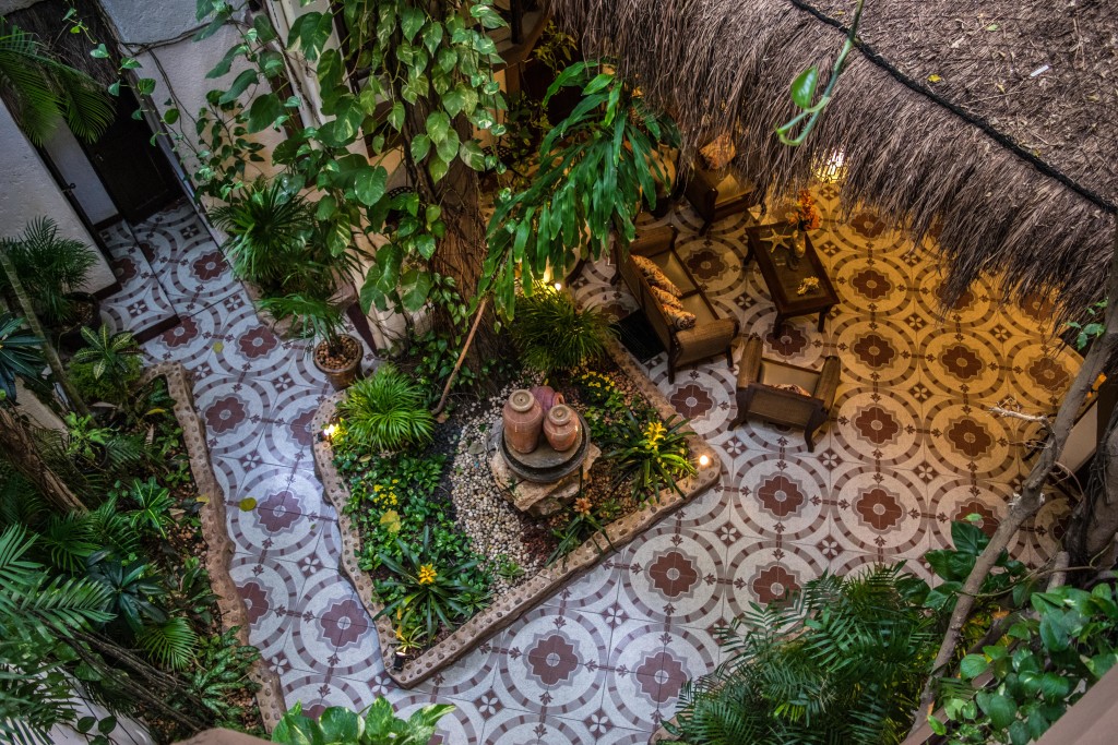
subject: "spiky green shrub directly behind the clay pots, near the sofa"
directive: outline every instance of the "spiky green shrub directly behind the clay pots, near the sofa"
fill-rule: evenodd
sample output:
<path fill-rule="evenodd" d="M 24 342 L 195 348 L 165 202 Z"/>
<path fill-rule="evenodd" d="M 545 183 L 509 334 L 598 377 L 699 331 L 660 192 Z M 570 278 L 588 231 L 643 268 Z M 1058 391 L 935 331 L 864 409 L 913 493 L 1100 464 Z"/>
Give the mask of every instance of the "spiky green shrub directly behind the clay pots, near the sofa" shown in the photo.
<path fill-rule="evenodd" d="M 517 298 L 510 332 L 524 365 L 550 374 L 600 356 L 609 325 L 594 308 L 579 311 L 566 293 L 537 285 L 531 295 Z"/>

